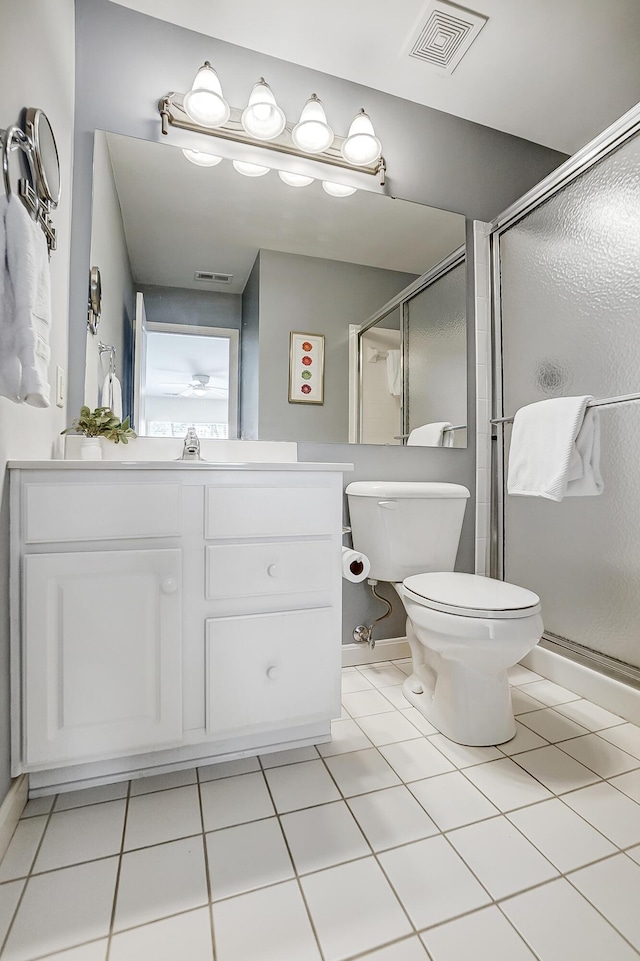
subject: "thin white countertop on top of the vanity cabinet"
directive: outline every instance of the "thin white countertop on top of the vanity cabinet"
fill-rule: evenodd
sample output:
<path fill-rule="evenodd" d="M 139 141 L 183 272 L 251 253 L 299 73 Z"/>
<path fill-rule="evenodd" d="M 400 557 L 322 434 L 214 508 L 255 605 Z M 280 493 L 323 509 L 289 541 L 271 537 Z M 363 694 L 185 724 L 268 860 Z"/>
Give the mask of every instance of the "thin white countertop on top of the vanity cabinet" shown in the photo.
<path fill-rule="evenodd" d="M 228 463 L 183 460 L 10 460 L 10 470 L 241 470 L 241 471 L 351 471 L 353 464 L 295 461 L 282 464 L 265 462 Z"/>

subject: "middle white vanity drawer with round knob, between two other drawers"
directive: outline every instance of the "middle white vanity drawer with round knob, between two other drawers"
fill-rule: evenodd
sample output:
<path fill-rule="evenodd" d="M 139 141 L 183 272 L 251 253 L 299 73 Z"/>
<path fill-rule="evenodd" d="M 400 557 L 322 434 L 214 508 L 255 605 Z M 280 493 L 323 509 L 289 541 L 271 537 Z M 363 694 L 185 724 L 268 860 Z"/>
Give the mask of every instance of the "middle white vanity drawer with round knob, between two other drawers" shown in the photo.
<path fill-rule="evenodd" d="M 205 552 L 209 601 L 278 597 L 305 591 L 316 595 L 331 590 L 338 564 L 336 546 L 329 538 L 216 544 L 206 547 Z"/>

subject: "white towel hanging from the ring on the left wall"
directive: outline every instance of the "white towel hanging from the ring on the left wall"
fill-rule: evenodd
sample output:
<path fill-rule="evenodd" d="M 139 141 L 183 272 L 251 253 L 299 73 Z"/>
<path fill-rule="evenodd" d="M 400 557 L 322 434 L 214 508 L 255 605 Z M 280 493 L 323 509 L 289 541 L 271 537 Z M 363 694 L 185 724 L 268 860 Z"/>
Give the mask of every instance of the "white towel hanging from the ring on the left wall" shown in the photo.
<path fill-rule="evenodd" d="M 47 242 L 15 194 L 7 202 L 5 225 L 14 356 L 22 365 L 18 398 L 32 407 L 48 407 L 51 291 Z"/>

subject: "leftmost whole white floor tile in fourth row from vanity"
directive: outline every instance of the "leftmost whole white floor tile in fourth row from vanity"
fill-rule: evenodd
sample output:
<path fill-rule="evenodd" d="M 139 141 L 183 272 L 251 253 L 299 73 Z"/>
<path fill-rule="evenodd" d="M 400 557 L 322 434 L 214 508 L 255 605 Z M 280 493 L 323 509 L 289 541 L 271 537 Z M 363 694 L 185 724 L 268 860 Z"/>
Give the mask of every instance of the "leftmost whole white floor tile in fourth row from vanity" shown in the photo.
<path fill-rule="evenodd" d="M 411 933 L 411 925 L 374 858 L 301 880 L 326 961 L 338 961 Z"/>

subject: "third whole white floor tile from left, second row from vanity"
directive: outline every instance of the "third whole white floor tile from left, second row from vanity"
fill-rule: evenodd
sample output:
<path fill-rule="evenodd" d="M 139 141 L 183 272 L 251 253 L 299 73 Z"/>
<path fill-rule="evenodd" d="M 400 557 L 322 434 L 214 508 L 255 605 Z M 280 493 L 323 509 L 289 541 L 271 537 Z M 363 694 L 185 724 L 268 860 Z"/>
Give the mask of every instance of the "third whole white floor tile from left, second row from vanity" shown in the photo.
<path fill-rule="evenodd" d="M 205 831 L 275 814 L 263 774 L 238 774 L 200 785 Z"/>

